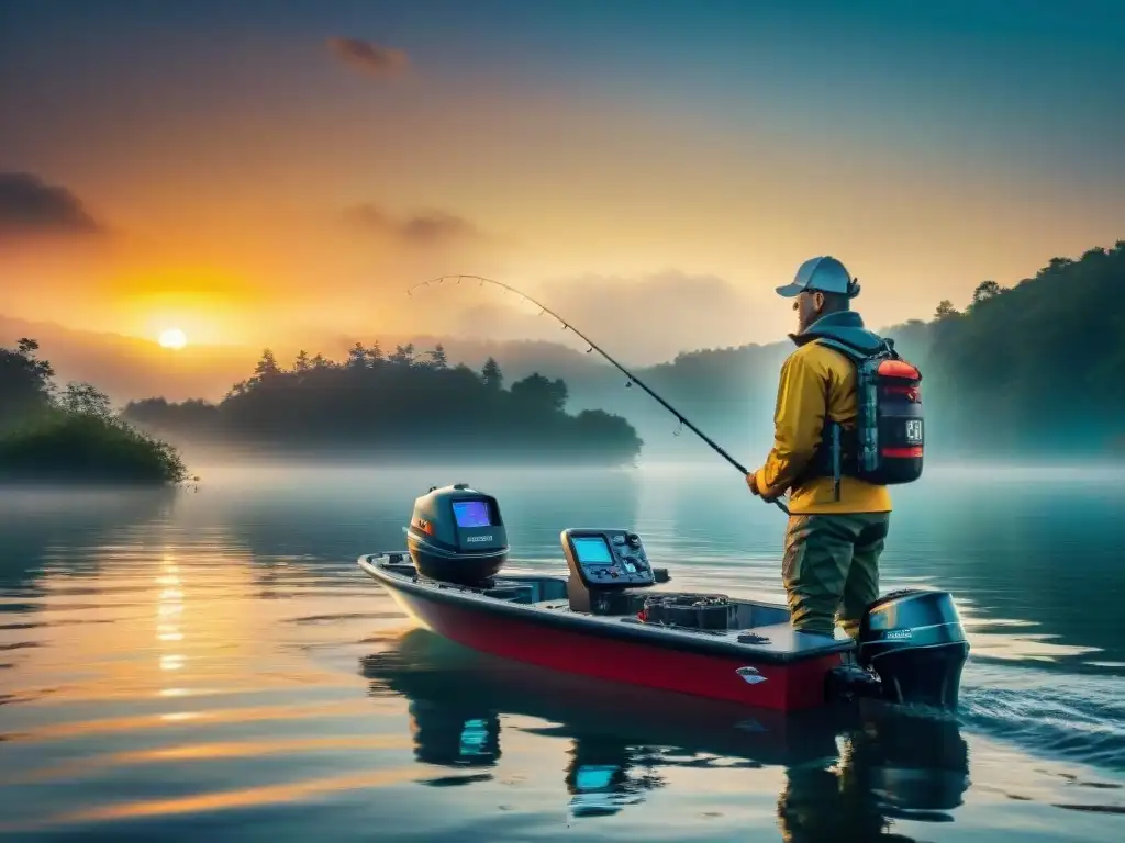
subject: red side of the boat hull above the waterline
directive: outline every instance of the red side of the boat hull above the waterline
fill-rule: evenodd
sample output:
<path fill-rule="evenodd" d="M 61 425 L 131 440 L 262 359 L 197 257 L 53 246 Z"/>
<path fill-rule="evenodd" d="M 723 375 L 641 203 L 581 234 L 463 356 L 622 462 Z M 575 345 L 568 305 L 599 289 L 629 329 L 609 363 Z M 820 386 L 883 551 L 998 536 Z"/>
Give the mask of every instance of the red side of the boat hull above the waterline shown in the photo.
<path fill-rule="evenodd" d="M 731 700 L 778 711 L 825 704 L 825 679 L 842 663 L 838 652 L 788 663 L 608 638 L 554 625 L 429 600 L 388 586 L 395 601 L 420 624 L 472 650 L 552 670 L 629 685 Z M 752 668 L 744 679 L 739 670 Z"/>

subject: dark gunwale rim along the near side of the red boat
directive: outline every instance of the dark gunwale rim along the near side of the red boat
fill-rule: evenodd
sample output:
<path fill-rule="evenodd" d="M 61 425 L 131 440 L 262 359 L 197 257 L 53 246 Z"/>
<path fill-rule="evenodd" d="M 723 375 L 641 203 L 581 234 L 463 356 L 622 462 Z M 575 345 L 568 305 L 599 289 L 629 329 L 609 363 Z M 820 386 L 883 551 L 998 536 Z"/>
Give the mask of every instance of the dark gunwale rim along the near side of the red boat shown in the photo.
<path fill-rule="evenodd" d="M 393 554 L 410 559 L 406 552 L 390 551 L 363 554 L 358 559 L 357 563 L 359 568 L 376 582 L 379 582 L 388 589 L 398 589 L 417 597 L 418 599 L 454 605 L 483 615 L 500 615 L 507 619 L 528 624 L 552 626 L 580 635 L 626 641 L 644 646 L 676 650 L 678 652 L 737 658 L 747 662 L 780 665 L 796 664 L 810 660 L 822 659 L 826 655 L 847 653 L 855 646 L 854 642 L 850 640 L 837 638 L 831 643 L 798 651 L 770 651 L 762 650 L 750 643 L 739 643 L 728 635 L 720 637 L 708 634 L 705 631 L 696 632 L 692 629 L 677 629 L 675 627 L 667 626 L 646 626 L 639 622 L 630 623 L 629 617 L 631 616 L 618 618 L 619 623 L 609 623 L 608 620 L 595 619 L 584 613 L 550 609 L 534 604 L 518 604 L 495 597 L 488 597 L 486 595 L 477 593 L 472 589 L 453 583 L 420 583 L 405 573 L 388 570 L 388 565 L 394 563 L 389 563 L 387 561 L 375 562 L 375 560 L 379 559 L 388 560 Z M 537 574 L 529 572 L 526 575 L 529 579 L 555 579 L 565 582 L 561 577 L 552 577 L 550 574 Z M 749 602 L 753 605 L 755 601 L 741 600 L 740 602 Z M 771 604 L 757 605 L 771 606 Z M 745 632 L 754 633 L 755 629 L 762 628 L 767 627 L 749 627 L 745 629 Z"/>

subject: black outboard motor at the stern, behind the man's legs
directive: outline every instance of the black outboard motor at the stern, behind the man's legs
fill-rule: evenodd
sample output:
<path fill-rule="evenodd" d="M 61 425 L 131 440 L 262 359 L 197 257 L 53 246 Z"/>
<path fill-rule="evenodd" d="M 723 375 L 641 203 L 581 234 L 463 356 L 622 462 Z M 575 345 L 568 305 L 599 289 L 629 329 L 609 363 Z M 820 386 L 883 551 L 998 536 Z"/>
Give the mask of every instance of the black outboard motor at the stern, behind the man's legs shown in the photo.
<path fill-rule="evenodd" d="M 969 641 L 946 591 L 894 591 L 867 607 L 856 661 L 892 703 L 956 708 Z"/>

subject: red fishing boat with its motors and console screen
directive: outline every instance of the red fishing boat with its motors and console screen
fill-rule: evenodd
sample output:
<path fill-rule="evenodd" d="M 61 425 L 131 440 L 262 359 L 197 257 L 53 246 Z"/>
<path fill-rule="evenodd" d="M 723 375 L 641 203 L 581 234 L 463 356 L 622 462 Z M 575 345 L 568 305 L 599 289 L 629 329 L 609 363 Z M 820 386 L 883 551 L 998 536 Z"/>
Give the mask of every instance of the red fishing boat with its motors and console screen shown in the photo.
<path fill-rule="evenodd" d="M 359 568 L 422 626 L 474 650 L 780 711 L 957 705 L 969 643 L 945 591 L 880 597 L 852 640 L 794 631 L 783 605 L 677 592 L 629 528 L 562 529 L 565 573 L 503 573 L 500 504 L 466 483 L 418 497 L 404 532 L 405 550 Z"/>

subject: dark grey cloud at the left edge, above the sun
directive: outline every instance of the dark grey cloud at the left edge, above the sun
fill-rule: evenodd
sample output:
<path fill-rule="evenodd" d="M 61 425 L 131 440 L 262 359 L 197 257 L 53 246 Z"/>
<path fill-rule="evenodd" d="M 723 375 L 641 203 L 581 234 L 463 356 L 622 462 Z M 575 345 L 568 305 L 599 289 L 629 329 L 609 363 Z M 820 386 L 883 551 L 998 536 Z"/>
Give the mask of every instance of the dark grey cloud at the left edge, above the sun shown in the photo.
<path fill-rule="evenodd" d="M 32 173 L 0 173 L 0 236 L 94 235 L 105 228 L 66 188 Z"/>

